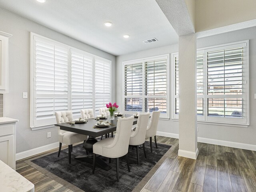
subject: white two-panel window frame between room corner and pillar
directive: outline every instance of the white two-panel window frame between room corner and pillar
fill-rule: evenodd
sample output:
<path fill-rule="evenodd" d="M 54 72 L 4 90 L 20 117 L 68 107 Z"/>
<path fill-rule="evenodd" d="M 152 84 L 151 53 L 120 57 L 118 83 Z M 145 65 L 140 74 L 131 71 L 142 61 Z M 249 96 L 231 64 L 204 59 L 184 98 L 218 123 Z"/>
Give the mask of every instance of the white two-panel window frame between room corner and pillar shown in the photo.
<path fill-rule="evenodd" d="M 158 56 L 140 58 L 135 60 L 128 60 L 122 62 L 122 79 L 125 78 L 125 66 L 130 64 L 142 63 L 142 95 L 128 95 L 125 96 L 125 81 L 122 83 L 122 108 L 126 114 L 134 114 L 134 111 L 125 111 L 125 98 L 142 98 L 142 112 L 145 112 L 145 99 L 146 98 L 162 98 L 161 95 L 146 96 L 145 95 L 145 62 L 152 60 L 166 59 L 166 116 L 160 114 L 161 120 L 170 119 L 170 54 L 162 54 Z M 164 97 L 165 98 L 165 97 Z M 150 112 L 151 113 L 151 112 Z"/>

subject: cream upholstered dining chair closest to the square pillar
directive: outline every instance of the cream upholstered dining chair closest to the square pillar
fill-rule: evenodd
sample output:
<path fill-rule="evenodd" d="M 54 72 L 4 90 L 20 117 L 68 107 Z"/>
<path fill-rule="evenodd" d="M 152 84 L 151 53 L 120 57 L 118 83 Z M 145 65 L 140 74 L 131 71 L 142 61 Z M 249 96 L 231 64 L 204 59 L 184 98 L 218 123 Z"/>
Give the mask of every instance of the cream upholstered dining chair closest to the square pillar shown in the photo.
<path fill-rule="evenodd" d="M 148 125 L 147 131 L 146 131 L 146 137 L 150 138 L 150 150 L 152 150 L 152 137 L 155 139 L 155 144 L 156 144 L 156 130 L 157 130 L 157 125 L 158 125 L 158 120 L 160 116 L 160 111 L 153 111 L 151 114 L 150 118 L 150 123 Z M 157 144 L 156 144 L 157 148 Z"/>

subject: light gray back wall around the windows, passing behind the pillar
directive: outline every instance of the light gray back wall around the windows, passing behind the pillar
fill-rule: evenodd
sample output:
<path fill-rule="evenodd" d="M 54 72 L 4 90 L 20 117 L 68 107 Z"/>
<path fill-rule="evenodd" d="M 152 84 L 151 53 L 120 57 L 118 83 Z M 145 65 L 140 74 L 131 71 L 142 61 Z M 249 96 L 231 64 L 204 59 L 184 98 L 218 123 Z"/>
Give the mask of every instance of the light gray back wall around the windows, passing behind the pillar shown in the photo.
<path fill-rule="evenodd" d="M 250 126 L 248 128 L 242 128 L 198 123 L 198 137 L 256 145 L 256 100 L 254 99 L 254 94 L 256 93 L 256 27 L 198 39 L 197 47 L 202 48 L 241 40 L 249 40 L 250 45 Z M 123 61 L 173 52 L 178 52 L 177 44 L 117 56 L 116 79 L 122 79 Z M 172 87 L 172 82 L 170 82 L 170 86 Z M 122 106 L 122 81 L 116 82 L 116 94 L 120 96 L 117 97 L 117 102 Z M 172 101 L 170 103 L 172 110 Z M 160 120 L 158 131 L 178 134 L 178 122 L 173 121 L 171 118 L 168 121 Z"/>

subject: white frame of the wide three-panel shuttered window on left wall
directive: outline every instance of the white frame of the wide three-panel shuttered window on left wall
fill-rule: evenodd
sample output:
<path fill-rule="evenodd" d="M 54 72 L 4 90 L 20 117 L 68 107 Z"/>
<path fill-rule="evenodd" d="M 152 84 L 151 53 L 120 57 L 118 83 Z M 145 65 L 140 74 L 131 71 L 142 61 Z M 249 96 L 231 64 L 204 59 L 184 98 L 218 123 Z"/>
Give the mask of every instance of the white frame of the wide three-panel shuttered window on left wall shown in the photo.
<path fill-rule="evenodd" d="M 88 56 L 92 56 L 93 57 L 93 61 L 92 61 L 92 78 L 93 78 L 93 94 L 92 94 L 92 101 L 93 101 L 93 110 L 94 110 L 94 114 L 96 115 L 96 107 L 95 107 L 95 59 L 97 58 L 98 60 L 102 60 L 104 62 L 109 62 L 110 63 L 110 99 L 112 100 L 112 61 L 108 60 L 106 58 L 102 58 L 100 56 L 88 53 L 86 51 L 80 50 L 78 48 L 74 48 L 72 46 L 63 44 L 61 42 L 58 42 L 56 40 L 52 40 L 50 38 L 38 35 L 36 33 L 30 32 L 30 128 L 32 130 L 39 130 L 39 129 L 44 129 L 44 128 L 50 128 L 50 127 L 55 127 L 54 124 L 45 124 L 45 125 L 39 125 L 39 126 L 35 126 L 34 125 L 34 114 L 35 114 L 35 106 L 34 106 L 34 102 L 35 102 L 35 96 L 36 96 L 36 85 L 35 85 L 35 71 L 36 71 L 36 65 L 35 65 L 35 57 L 34 57 L 34 37 L 36 38 L 42 38 L 44 39 L 46 42 L 50 42 L 53 44 L 58 44 L 58 46 L 61 47 L 65 47 L 68 49 L 68 110 L 71 110 L 72 108 L 72 82 L 71 82 L 71 72 L 72 72 L 72 58 L 71 58 L 71 52 L 74 51 L 78 54 L 84 54 L 84 55 L 88 55 Z M 103 107 L 103 106 L 102 106 Z M 78 115 L 73 115 L 73 118 L 77 118 Z"/>

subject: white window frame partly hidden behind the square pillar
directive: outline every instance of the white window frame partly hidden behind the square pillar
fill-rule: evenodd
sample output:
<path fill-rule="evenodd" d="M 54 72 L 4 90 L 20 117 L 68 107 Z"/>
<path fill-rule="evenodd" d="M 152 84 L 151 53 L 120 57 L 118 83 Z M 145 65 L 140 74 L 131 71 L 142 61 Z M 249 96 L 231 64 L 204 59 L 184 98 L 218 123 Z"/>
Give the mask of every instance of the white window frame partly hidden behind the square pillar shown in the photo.
<path fill-rule="evenodd" d="M 208 98 L 218 98 L 220 96 L 218 95 L 213 95 L 210 96 L 208 95 L 208 79 L 207 79 L 207 52 L 209 52 L 209 50 L 220 50 L 221 48 L 224 49 L 228 49 L 232 46 L 234 47 L 238 47 L 239 45 L 244 44 L 244 94 L 241 97 L 238 96 L 233 96 L 233 98 L 244 98 L 244 118 L 243 118 L 243 122 L 241 119 L 239 118 L 222 118 L 221 117 L 212 117 L 212 116 L 208 116 Z M 204 116 L 202 118 L 202 116 L 197 116 L 197 121 L 200 124 L 212 124 L 212 125 L 222 125 L 222 126 L 237 126 L 237 127 L 248 127 L 250 125 L 250 100 L 249 100 L 249 40 L 244 40 L 244 41 L 238 41 L 238 42 L 232 42 L 232 43 L 227 43 L 227 44 L 220 44 L 220 45 L 216 45 L 216 46 L 208 46 L 208 47 L 204 47 L 204 48 L 198 48 L 197 49 L 197 54 L 198 53 L 203 53 L 203 58 L 204 58 L 204 92 L 203 95 L 197 98 L 203 98 L 203 110 L 204 110 Z M 172 110 L 172 119 L 174 121 L 178 121 L 178 114 L 175 114 L 175 98 L 178 98 L 175 95 L 175 57 L 178 55 L 178 52 L 172 53 L 171 57 L 172 57 L 172 104 L 173 104 L 173 110 Z M 227 98 L 231 98 L 232 95 L 227 96 Z M 221 97 L 220 97 L 221 98 Z M 220 121 L 222 120 L 222 121 Z"/>

